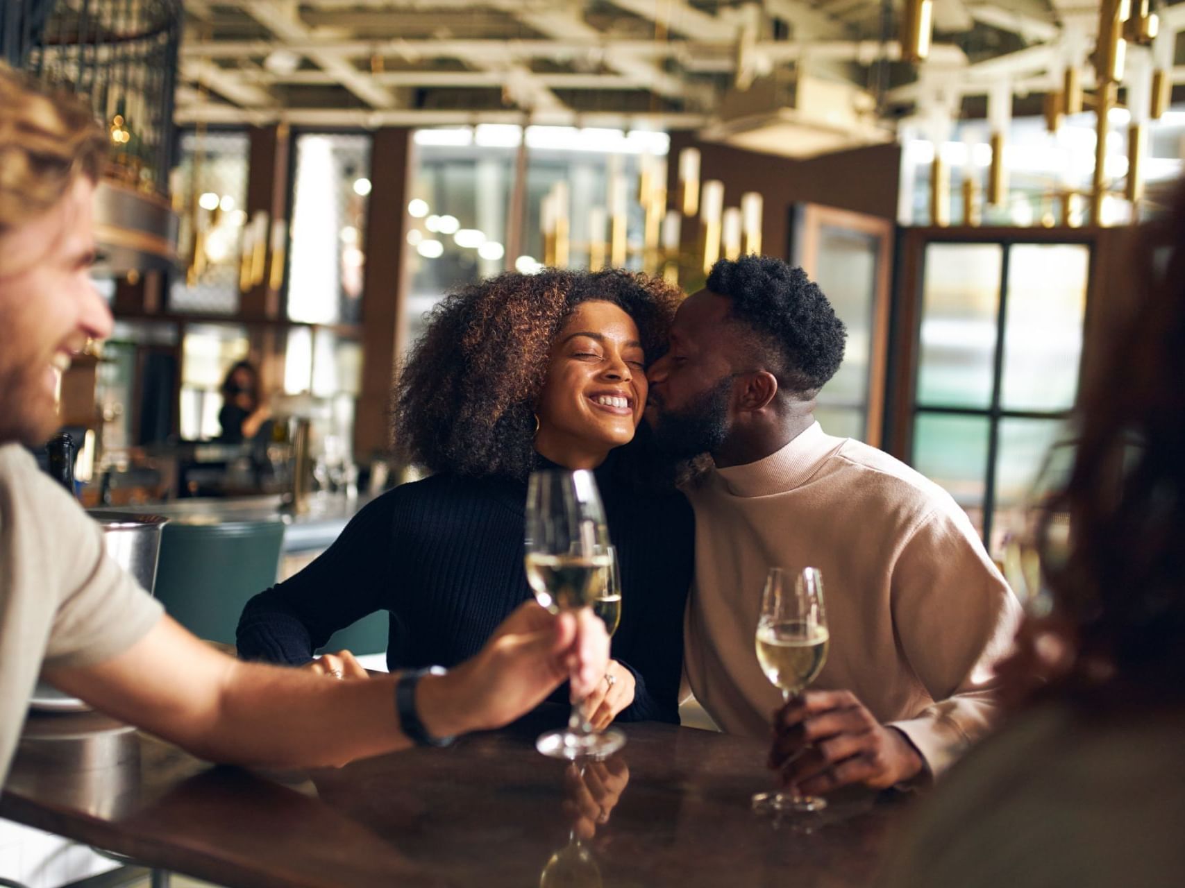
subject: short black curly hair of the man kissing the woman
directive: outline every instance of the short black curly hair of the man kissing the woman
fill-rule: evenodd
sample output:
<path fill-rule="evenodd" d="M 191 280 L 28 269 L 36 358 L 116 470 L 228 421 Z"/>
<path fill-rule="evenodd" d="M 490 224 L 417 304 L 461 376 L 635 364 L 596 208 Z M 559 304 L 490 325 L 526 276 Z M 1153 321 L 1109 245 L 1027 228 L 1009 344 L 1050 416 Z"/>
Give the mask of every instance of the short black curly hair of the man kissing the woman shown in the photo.
<path fill-rule="evenodd" d="M 707 289 L 728 297 L 730 316 L 756 334 L 790 391 L 813 397 L 844 362 L 844 322 L 802 269 L 770 256 L 720 259 Z"/>

